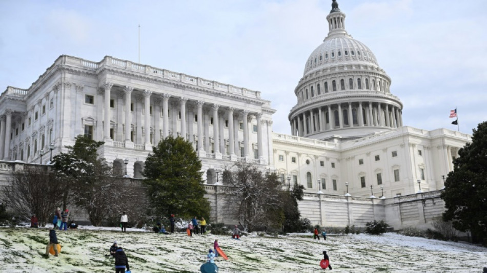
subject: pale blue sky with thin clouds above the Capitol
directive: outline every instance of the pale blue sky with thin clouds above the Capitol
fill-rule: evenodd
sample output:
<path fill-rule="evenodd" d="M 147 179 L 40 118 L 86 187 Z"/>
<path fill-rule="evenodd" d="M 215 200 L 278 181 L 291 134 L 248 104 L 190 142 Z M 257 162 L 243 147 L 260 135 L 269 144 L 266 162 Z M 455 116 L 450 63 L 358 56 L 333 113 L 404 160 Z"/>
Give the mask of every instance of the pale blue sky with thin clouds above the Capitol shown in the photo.
<path fill-rule="evenodd" d="M 404 125 L 472 133 L 487 120 L 487 1 L 338 0 L 374 52 Z M 331 0 L 0 0 L 0 90 L 29 88 L 63 54 L 109 55 L 261 92 L 288 114 L 305 63 L 328 34 Z"/>

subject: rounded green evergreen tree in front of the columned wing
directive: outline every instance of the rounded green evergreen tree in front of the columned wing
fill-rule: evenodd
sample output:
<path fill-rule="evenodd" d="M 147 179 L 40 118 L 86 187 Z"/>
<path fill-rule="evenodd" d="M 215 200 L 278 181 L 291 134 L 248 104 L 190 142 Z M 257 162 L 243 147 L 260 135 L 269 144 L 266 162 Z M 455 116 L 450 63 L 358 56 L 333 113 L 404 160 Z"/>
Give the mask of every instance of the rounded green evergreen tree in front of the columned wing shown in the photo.
<path fill-rule="evenodd" d="M 160 216 L 209 218 L 201 161 L 187 140 L 169 136 L 153 147 L 145 162 L 149 201 Z"/>

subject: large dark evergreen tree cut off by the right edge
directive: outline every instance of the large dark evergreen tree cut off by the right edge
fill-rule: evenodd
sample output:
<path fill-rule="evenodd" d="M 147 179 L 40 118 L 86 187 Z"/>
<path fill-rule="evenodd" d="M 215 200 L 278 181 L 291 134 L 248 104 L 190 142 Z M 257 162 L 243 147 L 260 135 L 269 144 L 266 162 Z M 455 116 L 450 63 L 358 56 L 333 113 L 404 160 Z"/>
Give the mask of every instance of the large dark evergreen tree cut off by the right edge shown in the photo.
<path fill-rule="evenodd" d="M 443 219 L 462 232 L 470 230 L 474 240 L 487 245 L 487 121 L 473 133 L 472 143 L 460 149 L 445 181 Z"/>

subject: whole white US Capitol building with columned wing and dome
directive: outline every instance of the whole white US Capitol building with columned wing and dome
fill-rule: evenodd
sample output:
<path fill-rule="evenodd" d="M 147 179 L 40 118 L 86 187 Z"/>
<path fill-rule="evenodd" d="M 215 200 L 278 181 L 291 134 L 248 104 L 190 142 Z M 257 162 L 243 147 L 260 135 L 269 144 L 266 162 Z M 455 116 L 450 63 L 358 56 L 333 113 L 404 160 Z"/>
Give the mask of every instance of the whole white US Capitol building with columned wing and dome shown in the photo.
<path fill-rule="evenodd" d="M 333 1 L 328 35 L 294 89 L 291 134 L 272 131 L 275 110 L 259 91 L 111 56 L 62 55 L 28 89 L 9 86 L 0 96 L 0 159 L 46 164 L 84 134 L 105 141 L 98 152 L 115 175 L 127 167 L 143 178 L 152 146 L 172 135 L 192 142 L 207 185 L 245 161 L 304 185 L 310 198 L 440 190 L 471 136 L 403 125 L 391 78 L 345 18 Z"/>

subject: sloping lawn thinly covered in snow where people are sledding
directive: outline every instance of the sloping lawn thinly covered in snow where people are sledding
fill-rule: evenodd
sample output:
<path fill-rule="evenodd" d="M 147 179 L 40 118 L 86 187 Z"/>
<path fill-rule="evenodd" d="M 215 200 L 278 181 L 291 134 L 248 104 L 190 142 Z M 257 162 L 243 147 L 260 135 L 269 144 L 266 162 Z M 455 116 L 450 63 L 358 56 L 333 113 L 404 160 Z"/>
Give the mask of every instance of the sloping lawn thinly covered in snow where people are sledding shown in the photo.
<path fill-rule="evenodd" d="M 218 239 L 229 260 L 218 258 L 219 272 L 317 272 L 327 250 L 335 272 L 482 272 L 487 248 L 467 243 L 405 237 L 312 235 L 278 237 L 185 234 L 161 235 L 131 229 L 87 228 L 57 231 L 60 256 L 43 258 L 47 228 L 0 228 L 0 272 L 114 272 L 105 257 L 114 240 L 123 247 L 132 272 L 199 272 Z"/>

